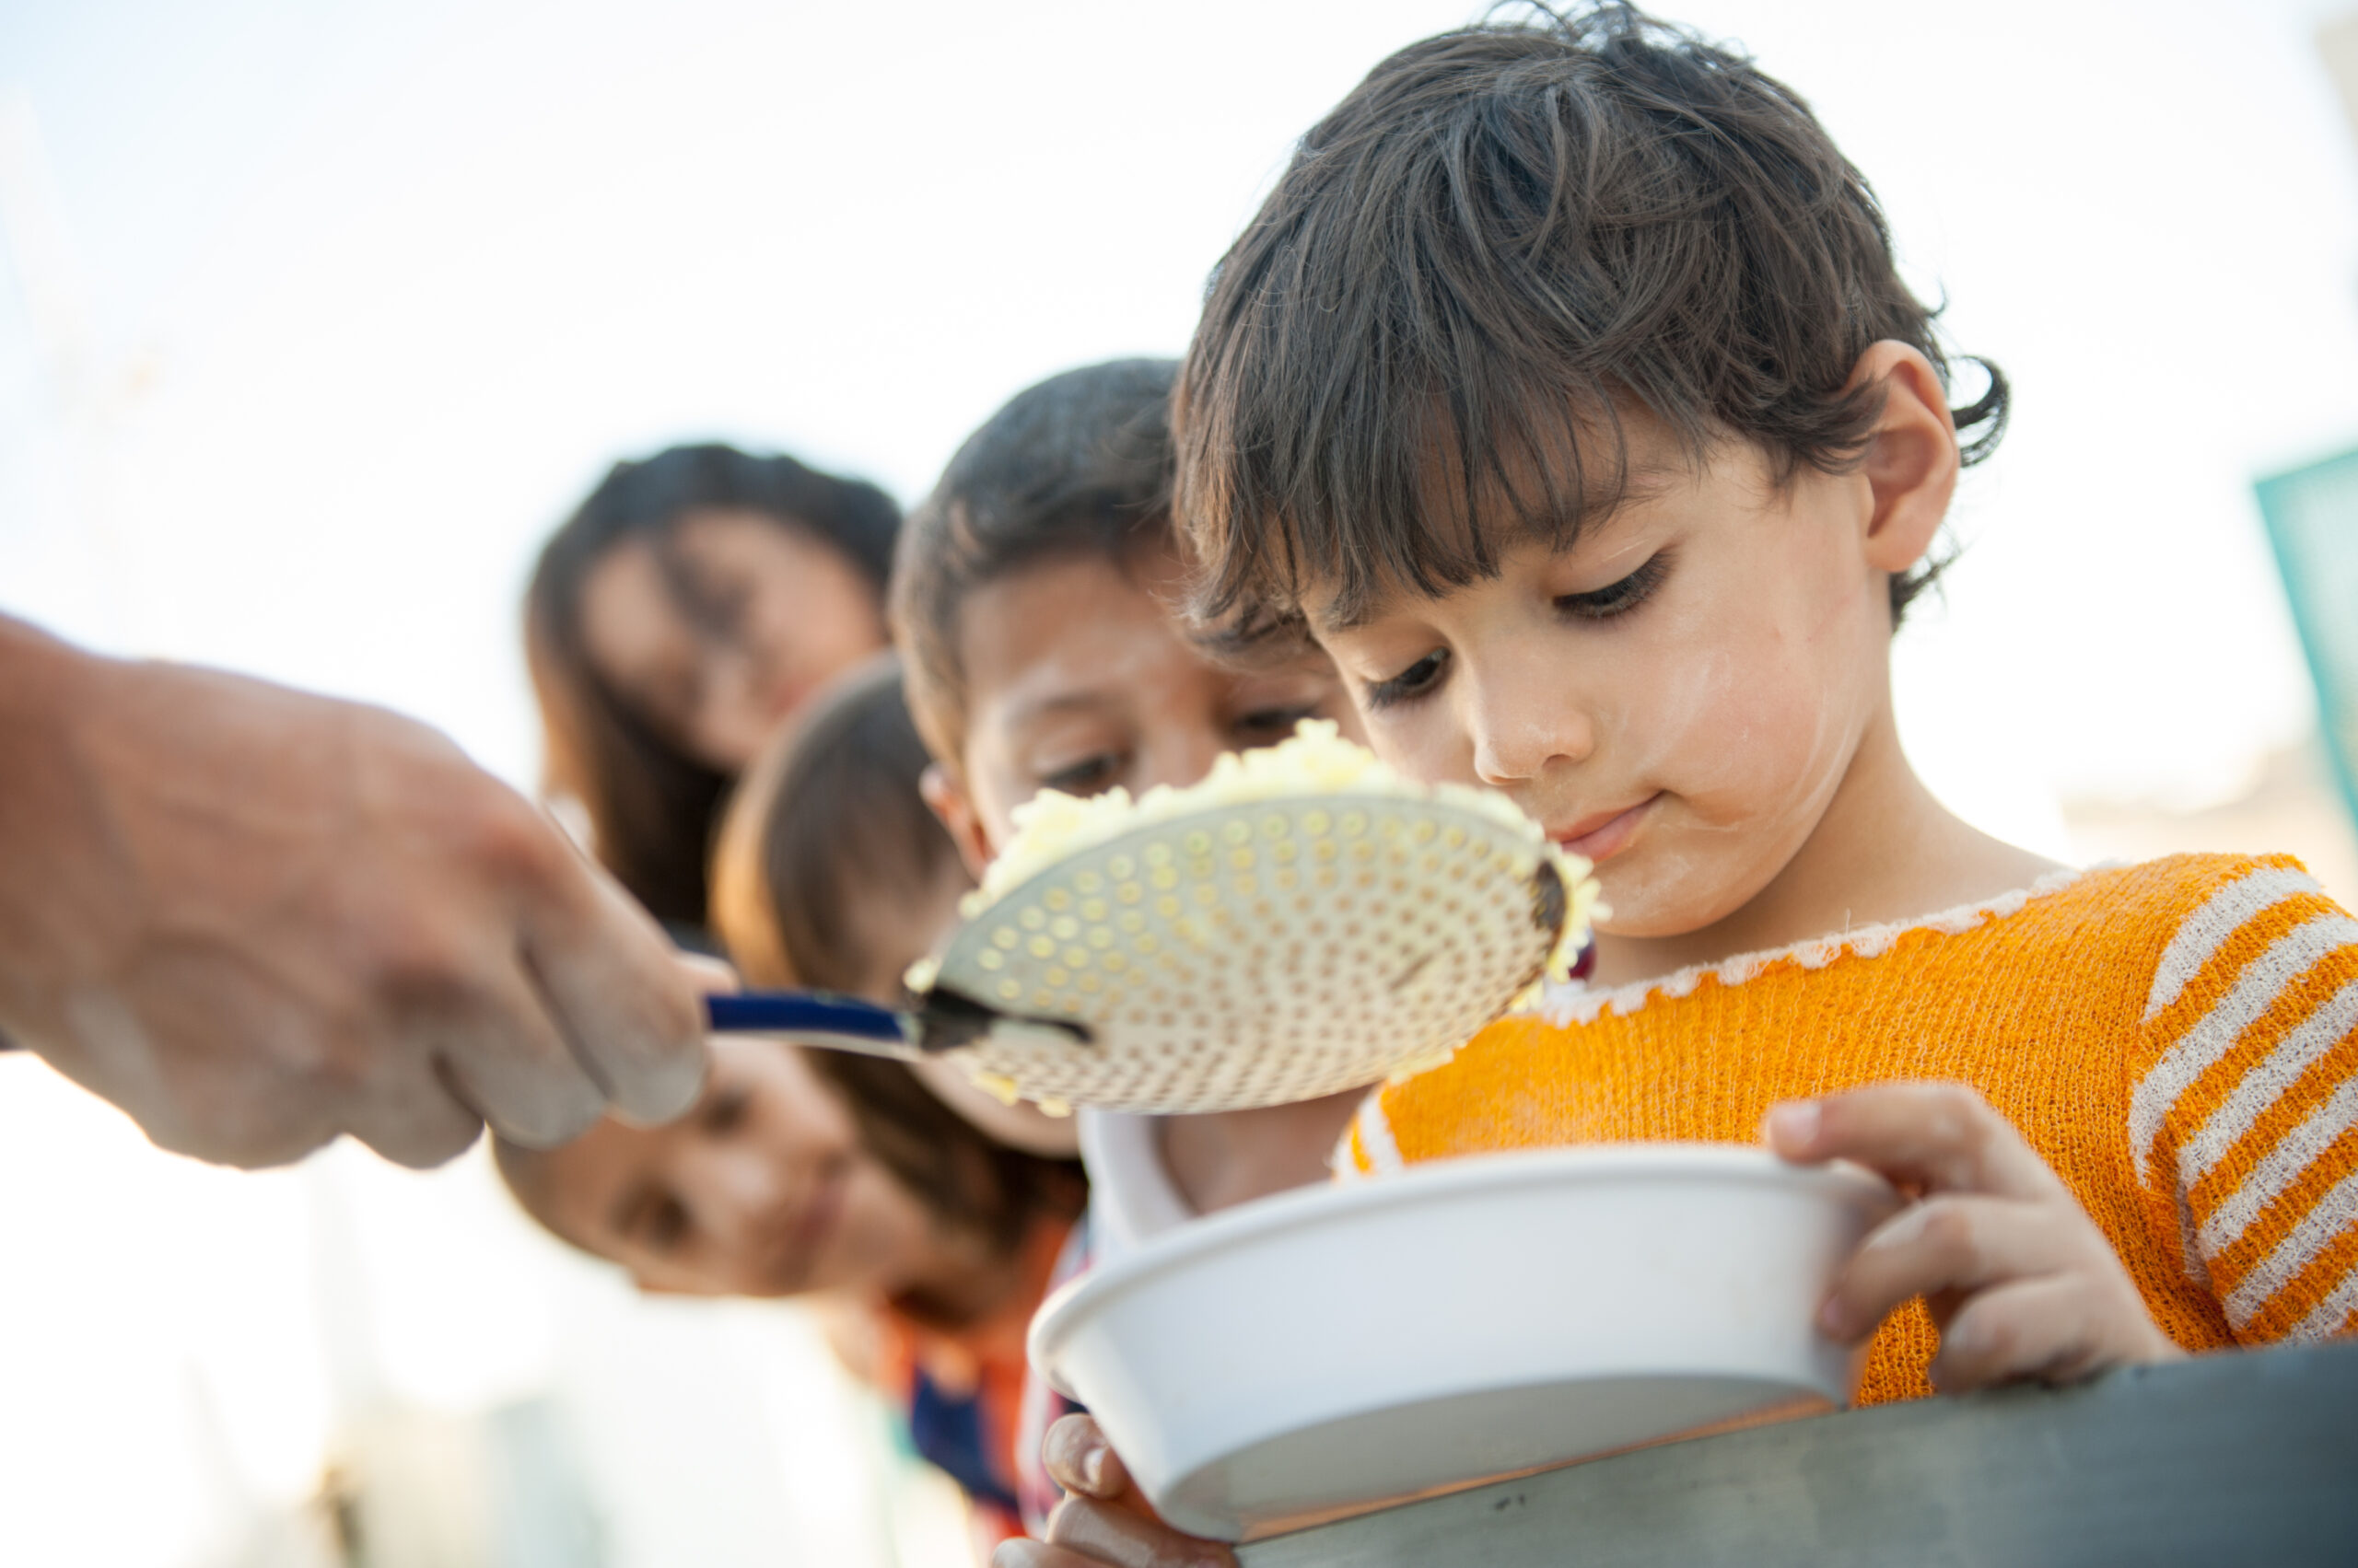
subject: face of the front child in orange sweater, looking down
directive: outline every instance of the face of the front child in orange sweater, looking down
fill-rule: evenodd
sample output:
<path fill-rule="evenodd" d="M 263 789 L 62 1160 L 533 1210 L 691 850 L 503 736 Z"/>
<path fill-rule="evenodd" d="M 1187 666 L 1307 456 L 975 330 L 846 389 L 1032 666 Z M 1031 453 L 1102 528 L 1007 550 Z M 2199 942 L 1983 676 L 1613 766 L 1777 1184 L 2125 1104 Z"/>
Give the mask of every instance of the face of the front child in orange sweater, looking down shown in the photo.
<path fill-rule="evenodd" d="M 1504 790 L 1596 861 L 1622 936 L 1698 931 L 1802 849 L 1889 705 L 1886 571 L 1863 474 L 1724 443 L 1700 469 L 1629 424 L 1629 498 L 1573 549 L 1391 594 L 1342 625 L 1306 604 L 1372 747 Z"/>

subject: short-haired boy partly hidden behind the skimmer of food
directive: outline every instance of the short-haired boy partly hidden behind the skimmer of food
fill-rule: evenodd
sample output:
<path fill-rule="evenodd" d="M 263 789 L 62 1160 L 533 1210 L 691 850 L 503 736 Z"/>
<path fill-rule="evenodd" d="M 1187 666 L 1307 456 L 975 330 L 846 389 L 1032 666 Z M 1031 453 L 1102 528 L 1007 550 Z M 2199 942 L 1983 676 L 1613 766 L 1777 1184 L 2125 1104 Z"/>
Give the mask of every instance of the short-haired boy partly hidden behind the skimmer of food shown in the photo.
<path fill-rule="evenodd" d="M 1016 394 L 901 533 L 891 620 L 936 757 L 927 799 L 976 875 L 1040 790 L 1188 785 L 1221 752 L 1283 740 L 1302 719 L 1353 724 L 1316 648 L 1236 672 L 1191 644 L 1170 526 L 1174 375 L 1172 361 L 1113 361 Z M 1323 1181 L 1353 1103 L 1082 1111 L 1094 1257 Z"/>

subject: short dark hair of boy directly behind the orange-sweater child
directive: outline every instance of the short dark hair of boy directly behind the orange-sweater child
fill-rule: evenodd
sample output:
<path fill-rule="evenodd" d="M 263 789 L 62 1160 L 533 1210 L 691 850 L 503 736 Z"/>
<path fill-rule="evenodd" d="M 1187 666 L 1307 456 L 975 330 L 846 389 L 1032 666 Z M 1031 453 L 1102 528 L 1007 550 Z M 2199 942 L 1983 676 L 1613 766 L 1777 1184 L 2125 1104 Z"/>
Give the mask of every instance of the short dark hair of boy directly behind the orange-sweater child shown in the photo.
<path fill-rule="evenodd" d="M 917 731 L 957 766 L 967 731 L 960 611 L 976 589 L 1066 554 L 1129 559 L 1170 538 L 1177 361 L 1118 358 L 1028 387 L 967 436 L 908 516 L 891 625 Z"/>

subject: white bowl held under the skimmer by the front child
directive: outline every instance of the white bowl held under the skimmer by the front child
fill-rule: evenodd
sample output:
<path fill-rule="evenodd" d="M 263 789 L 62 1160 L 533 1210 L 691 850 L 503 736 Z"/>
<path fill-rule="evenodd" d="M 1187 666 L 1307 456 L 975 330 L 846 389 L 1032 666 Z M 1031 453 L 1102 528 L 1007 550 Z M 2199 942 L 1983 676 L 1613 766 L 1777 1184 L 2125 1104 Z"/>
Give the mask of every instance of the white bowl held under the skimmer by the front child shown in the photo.
<path fill-rule="evenodd" d="M 1030 1356 L 1167 1521 L 1245 1540 L 1849 1403 L 1816 1311 L 1896 1207 L 1731 1144 L 1436 1160 L 1170 1231 L 1049 1297 Z"/>

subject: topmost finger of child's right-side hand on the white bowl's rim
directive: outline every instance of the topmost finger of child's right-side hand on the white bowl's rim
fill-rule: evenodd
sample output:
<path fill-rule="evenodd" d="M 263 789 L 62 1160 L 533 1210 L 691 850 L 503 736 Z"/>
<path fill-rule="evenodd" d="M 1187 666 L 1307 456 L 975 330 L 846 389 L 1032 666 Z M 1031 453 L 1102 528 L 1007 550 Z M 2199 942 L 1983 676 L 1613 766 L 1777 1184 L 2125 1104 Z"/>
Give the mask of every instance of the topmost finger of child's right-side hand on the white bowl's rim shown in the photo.
<path fill-rule="evenodd" d="M 1922 1191 L 2051 1198 L 2059 1179 L 1964 1085 L 1889 1082 L 1773 1106 L 1761 1125 L 1787 1160 L 1856 1160 Z"/>

